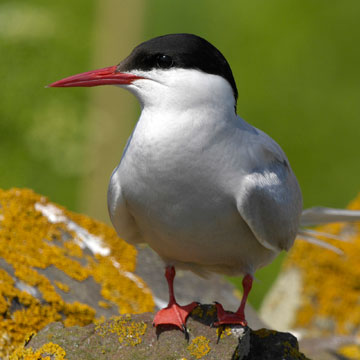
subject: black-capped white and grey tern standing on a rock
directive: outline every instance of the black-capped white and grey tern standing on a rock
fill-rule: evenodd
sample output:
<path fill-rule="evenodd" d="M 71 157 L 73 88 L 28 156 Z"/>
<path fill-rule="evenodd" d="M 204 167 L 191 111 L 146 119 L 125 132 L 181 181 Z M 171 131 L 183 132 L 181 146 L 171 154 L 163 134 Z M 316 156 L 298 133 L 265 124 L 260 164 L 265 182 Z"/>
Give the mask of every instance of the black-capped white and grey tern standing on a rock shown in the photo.
<path fill-rule="evenodd" d="M 147 243 L 162 258 L 169 303 L 154 326 L 186 332 L 197 302 L 179 305 L 175 269 L 243 276 L 236 312 L 215 303 L 214 326 L 247 326 L 244 309 L 257 269 L 289 250 L 300 232 L 302 193 L 284 151 L 237 114 L 238 90 L 224 55 L 202 37 L 162 35 L 118 65 L 49 87 L 116 85 L 136 96 L 141 114 L 108 188 L 118 235 Z M 356 213 L 355 218 L 360 217 Z M 328 208 L 306 212 L 336 221 Z M 353 218 L 342 210 L 342 220 Z"/>

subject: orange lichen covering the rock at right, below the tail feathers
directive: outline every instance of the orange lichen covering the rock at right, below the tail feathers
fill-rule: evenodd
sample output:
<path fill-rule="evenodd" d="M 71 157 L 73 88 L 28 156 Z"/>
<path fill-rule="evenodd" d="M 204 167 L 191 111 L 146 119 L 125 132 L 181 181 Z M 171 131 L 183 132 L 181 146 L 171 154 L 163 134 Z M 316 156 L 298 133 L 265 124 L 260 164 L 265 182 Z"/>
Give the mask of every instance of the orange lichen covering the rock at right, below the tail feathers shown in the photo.
<path fill-rule="evenodd" d="M 349 206 L 360 209 L 360 196 Z M 360 331 L 360 223 L 331 224 L 320 232 L 345 241 L 324 239 L 343 251 L 333 251 L 297 241 L 285 267 L 301 269 L 302 306 L 295 326 L 321 333 L 350 334 Z"/>

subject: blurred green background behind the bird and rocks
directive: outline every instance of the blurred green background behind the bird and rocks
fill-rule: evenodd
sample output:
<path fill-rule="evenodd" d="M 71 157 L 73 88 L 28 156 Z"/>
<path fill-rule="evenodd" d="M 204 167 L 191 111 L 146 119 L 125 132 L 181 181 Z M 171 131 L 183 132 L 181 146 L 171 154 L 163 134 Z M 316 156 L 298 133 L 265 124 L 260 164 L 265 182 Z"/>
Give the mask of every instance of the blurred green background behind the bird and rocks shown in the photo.
<path fill-rule="evenodd" d="M 239 115 L 285 150 L 305 207 L 344 207 L 360 189 L 359 19 L 358 0 L 0 0 L 0 187 L 108 222 L 107 182 L 136 101 L 115 87 L 44 86 L 191 32 L 227 57 Z M 257 274 L 255 306 L 280 262 Z"/>

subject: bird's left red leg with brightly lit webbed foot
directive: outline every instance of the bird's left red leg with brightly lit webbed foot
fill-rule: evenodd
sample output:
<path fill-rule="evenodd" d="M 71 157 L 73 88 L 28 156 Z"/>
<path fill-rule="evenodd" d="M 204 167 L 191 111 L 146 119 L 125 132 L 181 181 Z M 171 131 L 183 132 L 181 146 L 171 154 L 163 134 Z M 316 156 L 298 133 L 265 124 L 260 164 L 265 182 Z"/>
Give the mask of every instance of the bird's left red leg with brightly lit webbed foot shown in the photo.
<path fill-rule="evenodd" d="M 180 306 L 176 302 L 174 295 L 175 268 L 173 266 L 166 267 L 165 277 L 169 286 L 169 304 L 165 309 L 157 312 L 153 324 L 154 326 L 175 325 L 184 330 L 187 317 L 198 303 L 192 302 L 189 305 Z"/>

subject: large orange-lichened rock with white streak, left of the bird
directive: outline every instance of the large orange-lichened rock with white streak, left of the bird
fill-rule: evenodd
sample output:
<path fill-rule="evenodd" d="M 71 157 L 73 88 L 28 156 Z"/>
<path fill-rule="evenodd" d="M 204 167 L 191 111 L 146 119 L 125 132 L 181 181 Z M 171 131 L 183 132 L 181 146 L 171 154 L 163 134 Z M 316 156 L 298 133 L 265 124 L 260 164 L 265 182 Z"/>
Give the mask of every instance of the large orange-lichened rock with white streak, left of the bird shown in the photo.
<path fill-rule="evenodd" d="M 31 190 L 0 190 L 0 358 L 54 321 L 152 311 L 135 266 L 136 249 L 107 225 Z"/>

